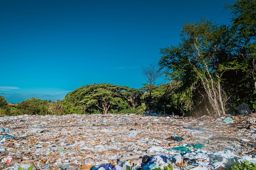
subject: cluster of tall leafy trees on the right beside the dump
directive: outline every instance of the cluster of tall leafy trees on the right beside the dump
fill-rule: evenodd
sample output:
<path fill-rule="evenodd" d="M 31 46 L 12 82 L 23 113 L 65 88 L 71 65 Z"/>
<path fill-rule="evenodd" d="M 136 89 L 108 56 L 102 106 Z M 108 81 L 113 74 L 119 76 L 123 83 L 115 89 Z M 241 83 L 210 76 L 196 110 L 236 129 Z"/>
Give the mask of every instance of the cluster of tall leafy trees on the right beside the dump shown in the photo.
<path fill-rule="evenodd" d="M 238 0 L 226 9 L 233 14 L 231 25 L 204 19 L 185 23 L 181 43 L 161 49 L 159 64 L 178 84 L 168 97 L 176 108 L 191 111 L 205 105 L 201 108 L 225 113 L 227 102 L 255 105 L 256 1 Z"/>

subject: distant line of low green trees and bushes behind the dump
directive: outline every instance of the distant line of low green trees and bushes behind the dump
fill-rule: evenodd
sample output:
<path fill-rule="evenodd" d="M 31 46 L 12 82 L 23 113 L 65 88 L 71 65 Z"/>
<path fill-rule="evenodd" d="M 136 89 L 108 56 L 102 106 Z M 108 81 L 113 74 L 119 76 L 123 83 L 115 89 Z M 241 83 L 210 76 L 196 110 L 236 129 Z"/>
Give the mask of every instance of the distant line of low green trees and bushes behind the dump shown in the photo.
<path fill-rule="evenodd" d="M 65 99 L 56 102 L 32 97 L 16 105 L 8 105 L 5 97 L 0 95 L 0 115 L 144 113 L 153 110 L 166 113 L 171 112 L 169 106 L 164 106 L 167 101 L 163 101 L 167 85 L 154 87 L 150 96 L 142 89 L 105 83 L 91 84 L 75 89 Z"/>

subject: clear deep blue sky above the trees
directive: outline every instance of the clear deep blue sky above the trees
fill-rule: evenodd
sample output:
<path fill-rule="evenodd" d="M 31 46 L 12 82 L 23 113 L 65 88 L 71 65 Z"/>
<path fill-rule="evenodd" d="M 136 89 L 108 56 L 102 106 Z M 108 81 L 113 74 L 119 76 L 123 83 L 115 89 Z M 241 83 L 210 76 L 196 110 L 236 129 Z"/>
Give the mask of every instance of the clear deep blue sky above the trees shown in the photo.
<path fill-rule="evenodd" d="M 184 22 L 230 22 L 235 0 L 2 0 L 0 95 L 56 101 L 82 85 L 140 88 Z"/>

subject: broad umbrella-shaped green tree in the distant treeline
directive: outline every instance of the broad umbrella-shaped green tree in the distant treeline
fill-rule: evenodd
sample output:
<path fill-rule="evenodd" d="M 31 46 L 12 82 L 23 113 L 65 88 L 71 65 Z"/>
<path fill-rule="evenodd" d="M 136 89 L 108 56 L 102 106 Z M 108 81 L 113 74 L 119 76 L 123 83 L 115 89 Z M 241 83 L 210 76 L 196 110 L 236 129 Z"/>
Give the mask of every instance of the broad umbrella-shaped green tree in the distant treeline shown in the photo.
<path fill-rule="evenodd" d="M 87 113 L 99 109 L 103 114 L 110 109 L 123 109 L 128 106 L 124 99 L 124 91 L 128 87 L 113 84 L 91 84 L 81 86 L 65 96 L 65 101 L 69 101 L 74 106 L 81 106 Z"/>

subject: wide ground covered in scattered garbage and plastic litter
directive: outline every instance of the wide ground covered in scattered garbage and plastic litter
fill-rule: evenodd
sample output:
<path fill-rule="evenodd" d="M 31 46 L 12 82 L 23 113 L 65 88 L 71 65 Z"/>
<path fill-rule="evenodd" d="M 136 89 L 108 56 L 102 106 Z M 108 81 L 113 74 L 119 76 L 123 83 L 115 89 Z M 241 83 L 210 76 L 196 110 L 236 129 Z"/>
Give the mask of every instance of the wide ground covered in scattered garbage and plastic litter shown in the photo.
<path fill-rule="evenodd" d="M 221 170 L 256 163 L 255 113 L 21 115 L 0 117 L 0 132 L 1 170 L 153 170 L 166 163 L 160 169 Z"/>

